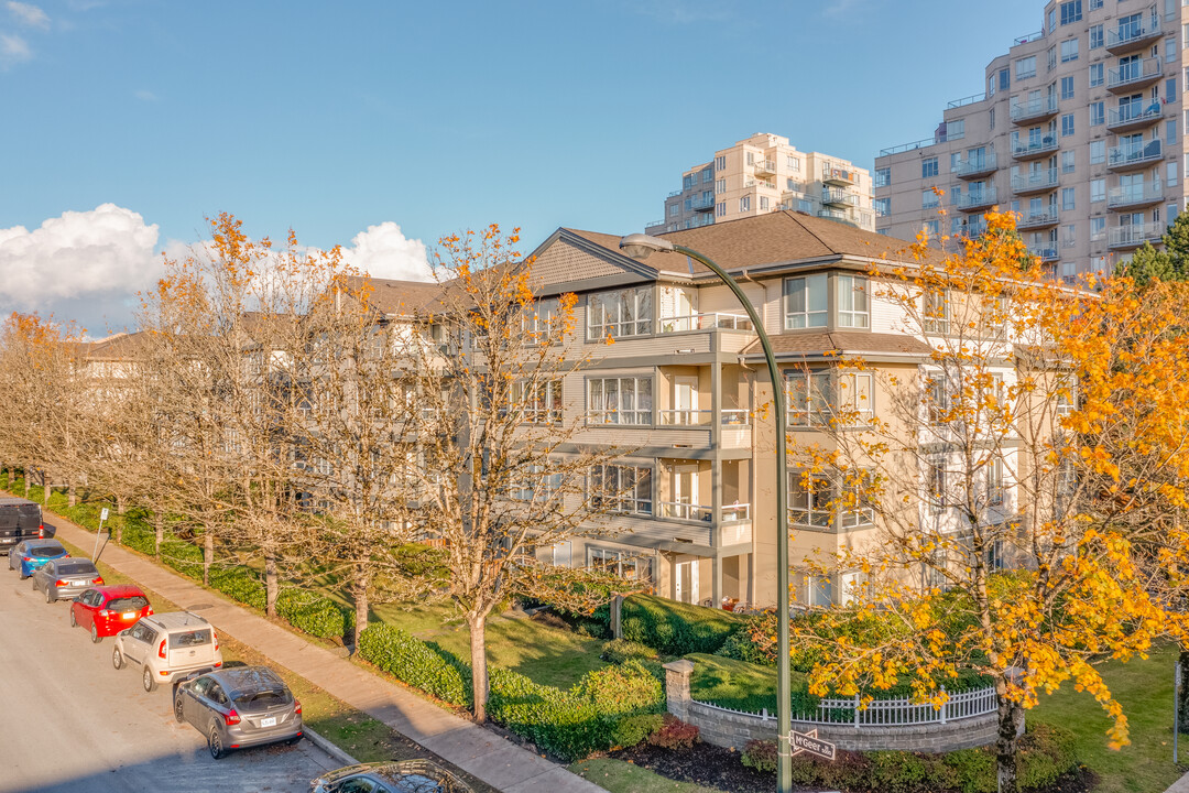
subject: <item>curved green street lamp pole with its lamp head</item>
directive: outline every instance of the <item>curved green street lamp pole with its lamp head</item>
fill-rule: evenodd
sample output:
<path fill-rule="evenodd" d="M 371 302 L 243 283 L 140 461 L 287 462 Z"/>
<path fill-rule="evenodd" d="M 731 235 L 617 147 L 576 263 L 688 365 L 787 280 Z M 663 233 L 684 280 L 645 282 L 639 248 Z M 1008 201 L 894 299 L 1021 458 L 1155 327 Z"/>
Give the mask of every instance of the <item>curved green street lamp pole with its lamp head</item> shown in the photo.
<path fill-rule="evenodd" d="M 619 240 L 619 250 L 633 259 L 644 259 L 650 253 L 684 253 L 697 259 L 726 284 L 751 320 L 751 327 L 760 336 L 763 358 L 768 363 L 768 376 L 772 378 L 772 401 L 776 413 L 776 791 L 789 793 L 793 787 L 792 755 L 788 749 L 788 734 L 792 730 L 792 692 L 788 682 L 788 479 L 785 470 L 785 389 L 776 369 L 776 358 L 772 354 L 772 342 L 763 329 L 763 322 L 735 279 L 715 264 L 710 257 L 688 247 L 675 245 L 667 239 L 649 234 L 628 234 Z M 716 395 L 717 396 L 717 395 Z"/>

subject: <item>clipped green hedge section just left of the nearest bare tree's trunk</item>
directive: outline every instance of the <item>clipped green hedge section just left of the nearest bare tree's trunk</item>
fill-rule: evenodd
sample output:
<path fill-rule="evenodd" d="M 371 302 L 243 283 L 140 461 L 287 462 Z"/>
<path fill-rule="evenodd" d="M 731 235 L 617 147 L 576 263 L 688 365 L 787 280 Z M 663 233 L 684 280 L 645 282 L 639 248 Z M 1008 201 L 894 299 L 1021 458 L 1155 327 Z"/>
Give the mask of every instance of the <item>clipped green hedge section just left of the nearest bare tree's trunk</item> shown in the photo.
<path fill-rule="evenodd" d="M 359 636 L 357 652 L 365 661 L 414 688 L 451 705 L 471 705 L 471 669 L 442 657 L 398 628 L 369 625 Z"/>

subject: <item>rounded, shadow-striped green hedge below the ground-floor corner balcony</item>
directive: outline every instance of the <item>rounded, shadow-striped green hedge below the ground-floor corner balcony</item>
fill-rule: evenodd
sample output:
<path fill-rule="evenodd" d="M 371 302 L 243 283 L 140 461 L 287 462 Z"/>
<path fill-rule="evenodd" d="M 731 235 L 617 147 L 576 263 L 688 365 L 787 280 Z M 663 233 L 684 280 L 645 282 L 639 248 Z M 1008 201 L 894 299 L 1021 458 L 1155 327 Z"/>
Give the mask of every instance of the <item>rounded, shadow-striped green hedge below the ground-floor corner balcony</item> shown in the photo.
<path fill-rule="evenodd" d="M 713 653 L 744 624 L 730 611 L 644 594 L 624 599 L 619 617 L 624 638 L 665 655 Z"/>

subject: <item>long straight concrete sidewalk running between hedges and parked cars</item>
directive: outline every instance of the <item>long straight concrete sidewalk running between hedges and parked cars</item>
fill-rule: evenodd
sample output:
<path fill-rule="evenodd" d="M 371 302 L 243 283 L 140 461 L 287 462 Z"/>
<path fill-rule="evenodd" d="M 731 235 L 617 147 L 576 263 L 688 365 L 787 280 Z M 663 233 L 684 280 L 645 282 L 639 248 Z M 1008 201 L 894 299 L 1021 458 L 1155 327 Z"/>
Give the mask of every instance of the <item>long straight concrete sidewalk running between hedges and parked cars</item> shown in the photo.
<path fill-rule="evenodd" d="M 90 548 L 95 542 L 94 534 L 59 515 L 54 515 L 54 524 L 58 537 L 80 548 Z M 202 616 L 219 630 L 504 793 L 603 791 L 561 766 L 442 710 L 124 548 L 108 545 L 102 560 L 181 608 L 203 606 Z"/>

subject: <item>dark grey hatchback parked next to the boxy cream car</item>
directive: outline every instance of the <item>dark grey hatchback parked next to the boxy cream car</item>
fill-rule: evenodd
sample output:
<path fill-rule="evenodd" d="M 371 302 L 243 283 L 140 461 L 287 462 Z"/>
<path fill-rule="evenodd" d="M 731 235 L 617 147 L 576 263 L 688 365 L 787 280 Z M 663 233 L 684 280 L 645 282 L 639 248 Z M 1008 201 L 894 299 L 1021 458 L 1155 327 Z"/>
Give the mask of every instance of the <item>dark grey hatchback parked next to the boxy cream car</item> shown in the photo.
<path fill-rule="evenodd" d="M 215 760 L 232 749 L 301 741 L 301 703 L 266 666 L 191 675 L 174 690 L 174 718 L 207 736 Z"/>

